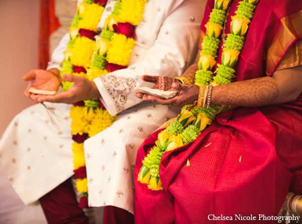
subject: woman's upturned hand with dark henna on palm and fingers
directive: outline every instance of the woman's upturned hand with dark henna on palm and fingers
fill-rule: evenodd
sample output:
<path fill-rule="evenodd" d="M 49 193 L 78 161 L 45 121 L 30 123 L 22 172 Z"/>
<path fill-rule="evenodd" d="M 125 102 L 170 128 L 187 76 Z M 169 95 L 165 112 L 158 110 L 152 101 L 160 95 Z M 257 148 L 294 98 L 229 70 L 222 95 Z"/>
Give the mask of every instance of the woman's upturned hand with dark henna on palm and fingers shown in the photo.
<path fill-rule="evenodd" d="M 198 99 L 199 86 L 197 86 L 197 85 L 181 84 L 178 82 L 174 82 L 174 79 L 169 78 L 169 77 L 161 77 L 161 76 L 160 77 L 148 76 L 148 77 L 158 78 L 158 79 L 156 79 L 156 78 L 149 79 L 149 80 L 151 80 L 150 82 L 156 83 L 156 85 L 153 88 L 155 88 L 157 86 L 157 88 L 160 89 L 159 86 L 161 86 L 162 90 L 165 90 L 165 91 L 175 91 L 176 90 L 177 94 L 176 94 L 176 96 L 174 96 L 172 98 L 164 99 L 164 98 L 161 98 L 158 96 L 145 94 L 142 92 L 137 92 L 135 94 L 135 96 L 137 96 L 138 98 L 142 98 L 143 100 L 146 100 L 146 101 L 153 101 L 153 102 L 158 102 L 161 104 L 169 104 L 169 105 L 174 105 L 174 106 L 184 106 L 186 104 L 191 104 L 191 103 L 194 103 Z M 147 81 L 146 77 L 144 77 L 144 76 L 142 76 L 142 79 L 144 81 Z M 164 81 L 160 81 L 161 79 Z M 171 79 L 172 79 L 172 82 L 171 82 Z M 163 84 L 164 82 L 166 82 L 166 84 Z"/>

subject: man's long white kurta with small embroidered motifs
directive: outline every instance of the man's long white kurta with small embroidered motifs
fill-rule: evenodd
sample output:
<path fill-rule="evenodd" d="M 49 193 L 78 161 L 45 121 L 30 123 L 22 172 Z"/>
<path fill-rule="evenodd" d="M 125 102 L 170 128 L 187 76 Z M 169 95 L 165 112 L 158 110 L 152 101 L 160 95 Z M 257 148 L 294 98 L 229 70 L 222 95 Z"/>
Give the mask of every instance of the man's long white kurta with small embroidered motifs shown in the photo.
<path fill-rule="evenodd" d="M 115 2 L 108 1 L 100 29 Z M 137 87 L 150 86 L 140 80 L 140 75 L 174 77 L 193 62 L 204 2 L 147 1 L 143 20 L 136 28 L 129 67 L 94 80 L 109 113 L 120 115 L 111 127 L 85 142 L 91 205 L 115 205 L 133 211 L 136 150 L 144 138 L 177 114 L 172 107 L 139 103 L 141 100 L 134 96 Z M 68 39 L 64 36 L 48 68 L 60 68 Z M 44 106 L 36 104 L 14 118 L 0 143 L 0 161 L 25 204 L 72 175 L 70 105 L 46 104 L 54 108 L 53 122 Z"/>

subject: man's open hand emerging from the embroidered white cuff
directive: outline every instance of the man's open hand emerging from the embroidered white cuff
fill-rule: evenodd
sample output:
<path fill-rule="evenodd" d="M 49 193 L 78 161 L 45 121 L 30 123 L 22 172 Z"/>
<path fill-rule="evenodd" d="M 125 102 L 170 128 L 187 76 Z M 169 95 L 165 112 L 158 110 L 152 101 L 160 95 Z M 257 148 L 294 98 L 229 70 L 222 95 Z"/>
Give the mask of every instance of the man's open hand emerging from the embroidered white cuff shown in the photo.
<path fill-rule="evenodd" d="M 34 95 L 31 97 L 38 102 L 75 103 L 84 99 L 100 98 L 101 94 L 93 81 L 82 76 L 62 75 L 63 80 L 73 82 L 72 87 L 56 95 Z"/>

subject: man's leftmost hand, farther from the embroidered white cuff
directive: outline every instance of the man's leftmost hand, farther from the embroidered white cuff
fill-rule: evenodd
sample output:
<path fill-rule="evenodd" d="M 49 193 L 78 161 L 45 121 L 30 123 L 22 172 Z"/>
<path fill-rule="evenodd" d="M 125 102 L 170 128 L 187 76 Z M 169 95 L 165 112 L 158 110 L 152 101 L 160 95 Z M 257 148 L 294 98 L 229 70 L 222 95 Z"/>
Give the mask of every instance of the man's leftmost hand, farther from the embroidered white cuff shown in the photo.
<path fill-rule="evenodd" d="M 24 91 L 24 94 L 27 97 L 35 95 L 28 91 L 30 88 L 57 91 L 60 86 L 60 81 L 54 74 L 41 69 L 31 70 L 29 73 L 23 76 L 23 80 L 29 81 L 29 84 Z"/>

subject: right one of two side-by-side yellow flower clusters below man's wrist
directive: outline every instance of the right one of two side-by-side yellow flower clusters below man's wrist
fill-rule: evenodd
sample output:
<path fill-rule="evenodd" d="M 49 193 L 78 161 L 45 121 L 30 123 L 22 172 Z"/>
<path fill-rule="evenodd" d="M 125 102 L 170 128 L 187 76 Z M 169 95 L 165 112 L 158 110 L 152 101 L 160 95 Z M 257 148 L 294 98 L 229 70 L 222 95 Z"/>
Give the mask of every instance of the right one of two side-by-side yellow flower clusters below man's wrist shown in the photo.
<path fill-rule="evenodd" d="M 116 116 L 111 116 L 106 109 L 97 108 L 95 110 L 95 116 L 91 124 L 88 126 L 89 137 L 93 137 L 94 135 L 108 128 L 110 125 L 112 125 L 115 119 Z"/>

